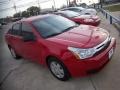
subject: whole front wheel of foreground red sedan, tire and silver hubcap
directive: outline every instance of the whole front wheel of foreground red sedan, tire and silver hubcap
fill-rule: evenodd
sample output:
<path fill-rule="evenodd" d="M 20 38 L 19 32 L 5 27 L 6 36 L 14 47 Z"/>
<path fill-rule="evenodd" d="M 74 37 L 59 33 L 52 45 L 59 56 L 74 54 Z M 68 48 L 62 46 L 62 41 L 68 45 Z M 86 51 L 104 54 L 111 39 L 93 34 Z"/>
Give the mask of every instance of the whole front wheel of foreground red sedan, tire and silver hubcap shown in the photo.
<path fill-rule="evenodd" d="M 53 76 L 57 79 L 61 81 L 67 81 L 70 78 L 70 74 L 65 65 L 56 58 L 49 59 L 48 67 Z"/>

